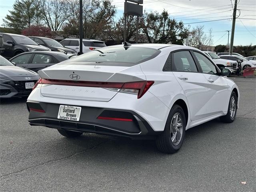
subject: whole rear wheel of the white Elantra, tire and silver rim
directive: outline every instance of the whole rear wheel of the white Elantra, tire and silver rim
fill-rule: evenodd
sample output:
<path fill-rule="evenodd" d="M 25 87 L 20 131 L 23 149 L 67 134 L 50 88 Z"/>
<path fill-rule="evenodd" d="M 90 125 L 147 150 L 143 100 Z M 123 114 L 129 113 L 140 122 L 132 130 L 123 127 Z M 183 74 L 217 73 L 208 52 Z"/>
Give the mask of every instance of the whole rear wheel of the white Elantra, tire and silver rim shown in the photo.
<path fill-rule="evenodd" d="M 186 118 L 179 105 L 172 106 L 164 131 L 156 139 L 158 150 L 164 153 L 176 153 L 182 146 L 185 137 Z"/>

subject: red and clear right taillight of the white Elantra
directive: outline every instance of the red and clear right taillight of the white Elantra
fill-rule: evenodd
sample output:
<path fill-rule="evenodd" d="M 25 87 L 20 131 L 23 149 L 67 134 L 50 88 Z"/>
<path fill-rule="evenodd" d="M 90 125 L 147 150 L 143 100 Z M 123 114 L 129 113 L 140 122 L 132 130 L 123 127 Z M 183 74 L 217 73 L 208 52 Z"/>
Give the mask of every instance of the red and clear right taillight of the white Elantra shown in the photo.
<path fill-rule="evenodd" d="M 138 94 L 138 99 L 141 98 L 147 90 L 154 84 L 154 81 L 138 81 L 125 83 L 121 92 Z"/>

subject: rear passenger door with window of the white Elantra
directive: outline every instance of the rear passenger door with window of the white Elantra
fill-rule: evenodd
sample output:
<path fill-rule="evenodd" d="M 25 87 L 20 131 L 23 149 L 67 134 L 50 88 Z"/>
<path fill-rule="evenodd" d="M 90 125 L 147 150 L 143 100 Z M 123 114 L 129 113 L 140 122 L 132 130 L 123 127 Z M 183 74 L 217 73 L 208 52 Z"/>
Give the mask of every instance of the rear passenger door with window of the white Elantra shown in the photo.
<path fill-rule="evenodd" d="M 190 50 L 172 52 L 172 72 L 182 87 L 188 106 L 191 120 L 206 117 L 207 102 L 209 99 L 208 82 L 198 70 Z"/>

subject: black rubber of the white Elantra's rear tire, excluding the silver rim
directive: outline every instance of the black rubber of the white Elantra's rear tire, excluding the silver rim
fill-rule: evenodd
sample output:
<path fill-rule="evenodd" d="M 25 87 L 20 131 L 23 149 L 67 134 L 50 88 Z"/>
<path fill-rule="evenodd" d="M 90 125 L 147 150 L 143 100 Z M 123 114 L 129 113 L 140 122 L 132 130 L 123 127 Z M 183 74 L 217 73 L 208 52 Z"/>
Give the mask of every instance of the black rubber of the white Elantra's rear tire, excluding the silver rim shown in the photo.
<path fill-rule="evenodd" d="M 174 118 L 174 115 L 176 115 L 177 113 L 180 114 L 180 119 L 182 120 L 183 126 L 181 128 L 182 133 L 180 135 L 180 141 L 178 142 L 177 145 L 174 145 L 171 140 L 172 133 L 170 131 L 170 128 L 171 128 L 171 123 Z M 156 139 L 156 146 L 158 150 L 164 153 L 169 153 L 169 154 L 176 153 L 181 148 L 182 143 L 184 141 L 185 128 L 186 128 L 186 118 L 185 118 L 184 111 L 179 105 L 175 104 L 174 106 L 172 106 L 172 109 L 170 110 L 164 131 Z"/>

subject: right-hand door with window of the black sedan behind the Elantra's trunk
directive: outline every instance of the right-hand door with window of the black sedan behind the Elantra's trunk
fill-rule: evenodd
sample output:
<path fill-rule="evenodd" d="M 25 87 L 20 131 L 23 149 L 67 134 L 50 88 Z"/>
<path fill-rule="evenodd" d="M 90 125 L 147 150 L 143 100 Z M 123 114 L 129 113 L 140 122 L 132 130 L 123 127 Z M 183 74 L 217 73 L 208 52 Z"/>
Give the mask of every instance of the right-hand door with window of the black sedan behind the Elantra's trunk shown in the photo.
<path fill-rule="evenodd" d="M 36 53 L 27 68 L 34 72 L 38 72 L 39 70 L 54 64 L 55 63 L 51 55 Z"/>

